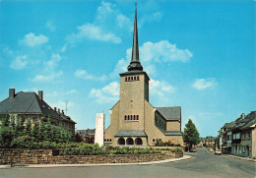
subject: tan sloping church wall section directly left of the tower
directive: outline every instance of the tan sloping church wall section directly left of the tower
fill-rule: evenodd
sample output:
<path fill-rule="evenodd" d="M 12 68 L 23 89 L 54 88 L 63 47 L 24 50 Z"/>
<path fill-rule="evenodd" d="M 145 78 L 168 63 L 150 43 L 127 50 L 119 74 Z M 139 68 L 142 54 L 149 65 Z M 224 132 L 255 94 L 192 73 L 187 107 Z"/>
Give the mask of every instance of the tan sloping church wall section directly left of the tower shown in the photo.
<path fill-rule="evenodd" d="M 109 146 L 117 145 L 117 141 L 115 141 L 114 135 L 118 132 L 119 125 L 119 101 L 115 104 L 115 106 L 110 110 L 110 126 L 105 130 L 104 139 L 111 139 Z"/>

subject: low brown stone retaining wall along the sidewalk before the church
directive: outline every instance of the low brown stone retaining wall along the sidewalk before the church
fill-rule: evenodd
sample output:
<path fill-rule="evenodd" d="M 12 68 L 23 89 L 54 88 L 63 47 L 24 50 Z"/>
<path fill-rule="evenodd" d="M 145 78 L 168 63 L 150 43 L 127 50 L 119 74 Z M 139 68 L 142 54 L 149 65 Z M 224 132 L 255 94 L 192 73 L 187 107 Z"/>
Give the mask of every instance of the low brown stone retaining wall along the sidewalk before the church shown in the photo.
<path fill-rule="evenodd" d="M 0 149 L 0 165 L 11 162 L 13 164 L 131 163 L 164 159 L 165 153 L 54 155 L 52 149 Z"/>

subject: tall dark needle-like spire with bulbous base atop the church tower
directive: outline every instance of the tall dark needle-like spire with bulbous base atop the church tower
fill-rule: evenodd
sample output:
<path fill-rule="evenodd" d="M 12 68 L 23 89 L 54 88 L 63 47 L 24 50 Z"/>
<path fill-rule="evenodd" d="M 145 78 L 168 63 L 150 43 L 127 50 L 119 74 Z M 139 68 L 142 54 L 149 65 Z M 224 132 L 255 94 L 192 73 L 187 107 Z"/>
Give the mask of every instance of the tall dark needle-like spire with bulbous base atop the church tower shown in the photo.
<path fill-rule="evenodd" d="M 138 43 L 138 28 L 137 28 L 137 3 L 135 3 L 135 18 L 133 31 L 133 48 L 132 59 L 130 65 L 127 67 L 128 71 L 143 71 L 139 57 L 139 43 Z"/>

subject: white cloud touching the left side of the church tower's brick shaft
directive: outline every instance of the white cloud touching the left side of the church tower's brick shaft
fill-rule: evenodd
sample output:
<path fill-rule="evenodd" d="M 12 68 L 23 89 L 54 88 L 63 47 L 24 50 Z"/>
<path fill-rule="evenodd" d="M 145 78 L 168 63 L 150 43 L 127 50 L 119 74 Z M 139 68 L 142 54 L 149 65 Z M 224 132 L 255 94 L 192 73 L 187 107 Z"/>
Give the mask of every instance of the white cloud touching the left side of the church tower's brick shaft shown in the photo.
<path fill-rule="evenodd" d="M 91 89 L 90 97 L 95 98 L 97 103 L 113 103 L 118 100 L 119 84 L 111 82 L 102 89 Z"/>

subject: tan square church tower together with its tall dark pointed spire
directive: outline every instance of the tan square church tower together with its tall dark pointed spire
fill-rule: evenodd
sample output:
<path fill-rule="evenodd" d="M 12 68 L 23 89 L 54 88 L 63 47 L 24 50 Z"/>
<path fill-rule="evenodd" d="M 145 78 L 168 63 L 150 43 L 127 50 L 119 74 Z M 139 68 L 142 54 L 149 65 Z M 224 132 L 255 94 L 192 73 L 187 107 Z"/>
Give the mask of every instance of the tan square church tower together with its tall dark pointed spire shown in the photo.
<path fill-rule="evenodd" d="M 149 101 L 150 78 L 143 71 L 140 62 L 137 7 L 135 7 L 132 57 L 127 70 L 128 72 L 120 74 L 119 128 L 144 130 L 144 100 Z"/>

